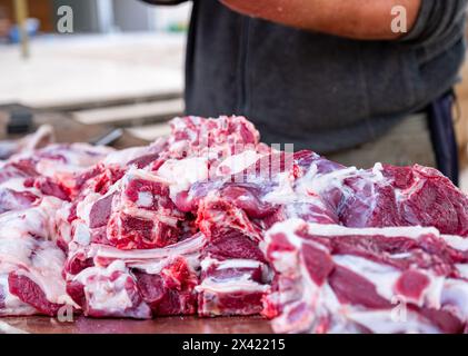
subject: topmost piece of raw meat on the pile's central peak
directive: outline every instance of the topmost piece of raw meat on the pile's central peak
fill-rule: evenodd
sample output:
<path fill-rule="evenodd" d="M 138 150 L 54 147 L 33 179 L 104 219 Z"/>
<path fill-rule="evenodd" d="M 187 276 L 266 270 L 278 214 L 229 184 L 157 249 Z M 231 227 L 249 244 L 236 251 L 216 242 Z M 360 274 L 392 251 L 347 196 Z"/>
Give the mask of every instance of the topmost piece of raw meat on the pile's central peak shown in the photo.
<path fill-rule="evenodd" d="M 168 180 L 172 200 L 191 185 L 231 176 L 268 152 L 243 117 L 177 118 L 171 128 L 166 151 L 151 170 Z"/>

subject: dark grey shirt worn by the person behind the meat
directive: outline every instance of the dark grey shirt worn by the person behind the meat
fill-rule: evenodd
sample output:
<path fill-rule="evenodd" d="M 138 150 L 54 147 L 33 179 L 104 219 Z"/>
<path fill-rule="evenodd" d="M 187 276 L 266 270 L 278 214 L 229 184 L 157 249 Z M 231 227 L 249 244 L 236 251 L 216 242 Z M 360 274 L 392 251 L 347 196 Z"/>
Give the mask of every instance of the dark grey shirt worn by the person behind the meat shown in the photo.
<path fill-rule="evenodd" d="M 370 141 L 457 81 L 466 3 L 422 0 L 416 26 L 402 39 L 359 41 L 245 17 L 218 0 L 196 0 L 187 113 L 245 115 L 265 142 L 293 142 L 320 154 Z"/>

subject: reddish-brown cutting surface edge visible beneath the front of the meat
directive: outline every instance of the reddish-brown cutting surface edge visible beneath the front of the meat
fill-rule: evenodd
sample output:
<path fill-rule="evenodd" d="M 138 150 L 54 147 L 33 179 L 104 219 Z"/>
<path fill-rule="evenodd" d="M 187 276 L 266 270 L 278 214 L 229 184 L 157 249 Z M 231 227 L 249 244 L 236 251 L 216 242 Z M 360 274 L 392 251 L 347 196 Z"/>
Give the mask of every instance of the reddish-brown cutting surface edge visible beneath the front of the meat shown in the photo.
<path fill-rule="evenodd" d="M 48 317 L 0 318 L 0 334 L 271 334 L 261 317 L 160 317 L 153 320 L 89 319 L 60 323 Z"/>

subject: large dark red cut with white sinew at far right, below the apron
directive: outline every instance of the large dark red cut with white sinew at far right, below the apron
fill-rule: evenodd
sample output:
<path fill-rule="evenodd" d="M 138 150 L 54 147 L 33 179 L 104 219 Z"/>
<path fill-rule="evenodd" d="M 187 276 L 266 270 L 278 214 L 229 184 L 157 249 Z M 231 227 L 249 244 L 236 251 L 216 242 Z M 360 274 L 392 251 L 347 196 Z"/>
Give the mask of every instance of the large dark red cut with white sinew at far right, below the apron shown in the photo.
<path fill-rule="evenodd" d="M 317 157 L 302 159 L 306 174 L 297 185 L 327 201 L 345 226 L 419 225 L 448 235 L 468 234 L 468 197 L 434 168 L 377 164 L 358 170 L 325 159 L 319 159 L 319 168 L 317 161 Z"/>

